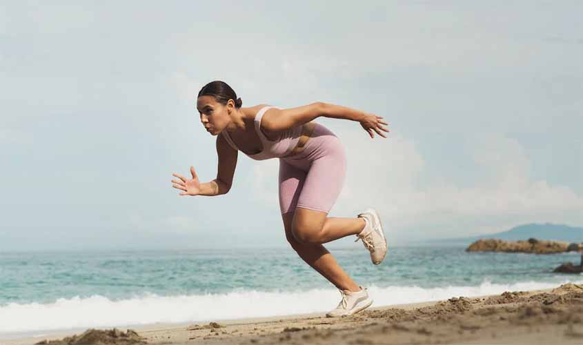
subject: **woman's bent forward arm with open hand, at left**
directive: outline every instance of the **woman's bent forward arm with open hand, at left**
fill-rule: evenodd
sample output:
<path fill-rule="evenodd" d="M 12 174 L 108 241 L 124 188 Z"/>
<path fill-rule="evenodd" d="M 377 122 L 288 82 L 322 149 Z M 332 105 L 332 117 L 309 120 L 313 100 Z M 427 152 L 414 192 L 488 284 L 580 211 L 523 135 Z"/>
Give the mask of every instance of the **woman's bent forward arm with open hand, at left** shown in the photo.
<path fill-rule="evenodd" d="M 213 181 L 201 184 L 197 177 L 194 167 L 190 167 L 192 179 L 186 179 L 182 175 L 172 174 L 178 177 L 178 180 L 172 180 L 174 188 L 183 190 L 180 195 L 206 195 L 214 197 L 215 195 L 226 194 L 233 185 L 233 176 L 237 166 L 238 151 L 232 148 L 222 135 L 217 136 L 217 155 L 219 156 L 219 168 L 217 178 Z"/>

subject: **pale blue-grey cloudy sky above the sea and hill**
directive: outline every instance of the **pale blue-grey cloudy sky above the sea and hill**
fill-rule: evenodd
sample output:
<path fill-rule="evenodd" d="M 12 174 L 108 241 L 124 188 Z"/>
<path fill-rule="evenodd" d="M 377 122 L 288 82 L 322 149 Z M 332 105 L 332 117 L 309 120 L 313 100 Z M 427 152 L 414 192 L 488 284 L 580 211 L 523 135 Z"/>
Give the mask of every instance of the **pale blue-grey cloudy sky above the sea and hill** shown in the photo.
<path fill-rule="evenodd" d="M 583 226 L 580 1 L 1 1 L 0 251 L 288 246 L 277 159 L 216 177 L 196 97 L 315 101 L 348 169 L 330 217 L 368 207 L 389 246 L 528 223 Z M 325 246 L 362 246 L 345 237 Z"/>

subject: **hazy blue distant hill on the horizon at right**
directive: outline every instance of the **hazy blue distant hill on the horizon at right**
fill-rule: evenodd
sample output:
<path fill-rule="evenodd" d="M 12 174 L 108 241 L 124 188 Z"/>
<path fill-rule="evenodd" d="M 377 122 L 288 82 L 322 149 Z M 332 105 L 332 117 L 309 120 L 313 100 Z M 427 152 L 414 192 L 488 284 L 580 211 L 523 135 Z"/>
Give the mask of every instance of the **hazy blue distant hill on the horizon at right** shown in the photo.
<path fill-rule="evenodd" d="M 451 239 L 439 239 L 432 241 L 433 243 L 441 244 L 471 244 L 478 239 L 496 238 L 505 239 L 506 241 L 517 241 L 519 239 L 529 239 L 534 237 L 536 239 L 551 239 L 553 241 L 562 242 L 583 242 L 583 228 L 567 226 L 562 224 L 525 224 L 516 226 L 508 231 L 502 233 L 494 233 L 488 235 L 479 235 L 472 237 L 459 237 Z"/>

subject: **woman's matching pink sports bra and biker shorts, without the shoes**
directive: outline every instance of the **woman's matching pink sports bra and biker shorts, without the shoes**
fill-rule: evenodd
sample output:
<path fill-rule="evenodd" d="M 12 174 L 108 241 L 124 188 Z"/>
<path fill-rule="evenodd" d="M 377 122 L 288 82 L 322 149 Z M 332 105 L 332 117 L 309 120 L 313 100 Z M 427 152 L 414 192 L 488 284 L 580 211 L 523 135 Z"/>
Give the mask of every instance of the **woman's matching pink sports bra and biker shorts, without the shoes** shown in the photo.
<path fill-rule="evenodd" d="M 344 146 L 333 132 L 315 122 L 304 150 L 289 155 L 302 136 L 302 126 L 280 132 L 275 141 L 267 139 L 261 132 L 261 118 L 269 108 L 277 107 L 261 108 L 255 116 L 255 130 L 263 150 L 247 156 L 257 161 L 279 158 L 279 209 L 282 215 L 292 212 L 296 207 L 328 213 L 344 184 Z M 230 146 L 239 150 L 226 130 L 221 134 L 224 134 Z"/>

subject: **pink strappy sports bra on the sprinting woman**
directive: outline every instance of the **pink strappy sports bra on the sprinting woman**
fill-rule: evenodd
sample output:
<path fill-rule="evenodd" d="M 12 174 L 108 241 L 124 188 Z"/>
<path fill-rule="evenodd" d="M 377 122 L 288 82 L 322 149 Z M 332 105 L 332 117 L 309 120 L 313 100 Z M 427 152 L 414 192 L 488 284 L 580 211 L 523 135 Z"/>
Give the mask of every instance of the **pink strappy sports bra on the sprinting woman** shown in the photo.
<path fill-rule="evenodd" d="M 261 117 L 263 117 L 264 113 L 269 108 L 277 107 L 266 106 L 264 108 L 261 108 L 257 112 L 257 115 L 255 115 L 255 131 L 257 131 L 257 135 L 261 140 L 263 150 L 261 150 L 261 152 L 259 153 L 256 153 L 255 155 L 248 155 L 248 157 L 250 157 L 251 159 L 255 159 L 256 161 L 261 161 L 264 159 L 270 159 L 275 157 L 284 157 L 289 152 L 291 152 L 293 148 L 295 148 L 297 142 L 299 141 L 299 137 L 302 136 L 302 126 L 296 126 L 293 128 L 289 128 L 288 130 L 285 130 L 283 132 L 279 132 L 277 139 L 275 139 L 274 141 L 267 139 L 263 132 L 261 132 Z M 239 150 L 239 148 L 237 148 L 237 145 L 235 145 L 235 142 L 233 142 L 233 139 L 231 139 L 229 133 L 226 130 L 223 130 L 221 134 L 224 134 L 224 138 L 227 140 L 231 147 L 233 147 L 235 150 Z M 245 153 L 245 155 L 247 154 Z"/>

